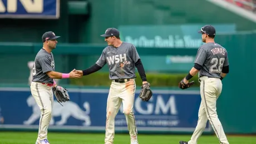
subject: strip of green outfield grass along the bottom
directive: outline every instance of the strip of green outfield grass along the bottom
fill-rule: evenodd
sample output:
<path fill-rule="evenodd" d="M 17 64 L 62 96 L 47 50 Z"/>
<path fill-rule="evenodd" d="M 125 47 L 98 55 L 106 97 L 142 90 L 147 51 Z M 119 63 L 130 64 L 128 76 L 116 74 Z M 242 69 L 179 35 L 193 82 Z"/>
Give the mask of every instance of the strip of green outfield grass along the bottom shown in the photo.
<path fill-rule="evenodd" d="M 1 144 L 34 144 L 37 132 L 0 132 Z M 56 133 L 49 132 L 51 144 L 104 144 L 104 134 Z M 190 135 L 139 135 L 140 144 L 178 144 L 180 140 L 189 140 Z M 230 144 L 256 144 L 256 136 L 228 136 Z M 201 136 L 198 144 L 218 144 L 213 136 Z M 127 134 L 116 134 L 114 144 L 130 144 Z"/>

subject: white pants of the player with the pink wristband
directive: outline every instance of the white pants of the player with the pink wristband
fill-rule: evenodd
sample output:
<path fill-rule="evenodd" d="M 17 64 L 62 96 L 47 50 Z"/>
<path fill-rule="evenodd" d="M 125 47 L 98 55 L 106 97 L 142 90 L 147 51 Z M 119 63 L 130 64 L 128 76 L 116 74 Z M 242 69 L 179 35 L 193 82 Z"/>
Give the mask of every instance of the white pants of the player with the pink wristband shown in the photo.
<path fill-rule="evenodd" d="M 31 82 L 30 88 L 32 96 L 35 98 L 36 103 L 41 110 L 37 140 L 44 140 L 47 138 L 47 129 L 52 116 L 52 87 L 43 85 L 40 82 Z"/>

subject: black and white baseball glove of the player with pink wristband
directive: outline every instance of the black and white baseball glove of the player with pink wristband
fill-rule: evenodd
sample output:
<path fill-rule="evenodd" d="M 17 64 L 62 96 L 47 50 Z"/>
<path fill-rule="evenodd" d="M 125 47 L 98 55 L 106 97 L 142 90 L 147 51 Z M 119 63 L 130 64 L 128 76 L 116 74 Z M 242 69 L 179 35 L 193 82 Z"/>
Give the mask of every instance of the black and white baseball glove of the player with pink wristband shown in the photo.
<path fill-rule="evenodd" d="M 68 92 L 66 88 L 63 88 L 61 86 L 56 86 L 52 88 L 53 93 L 57 99 L 57 102 L 66 102 L 70 100 L 70 96 L 68 95 Z"/>

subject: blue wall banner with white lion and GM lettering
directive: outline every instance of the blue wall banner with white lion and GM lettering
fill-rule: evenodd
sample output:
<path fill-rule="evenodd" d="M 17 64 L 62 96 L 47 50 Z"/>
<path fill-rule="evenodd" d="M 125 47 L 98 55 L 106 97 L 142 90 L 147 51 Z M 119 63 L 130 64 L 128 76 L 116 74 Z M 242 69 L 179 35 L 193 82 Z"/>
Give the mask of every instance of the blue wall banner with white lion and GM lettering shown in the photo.
<path fill-rule="evenodd" d="M 53 104 L 49 129 L 105 131 L 107 89 L 69 89 L 71 101 Z M 153 90 L 149 102 L 136 91 L 134 115 L 137 130 L 147 132 L 193 132 L 198 121 L 199 91 Z M 0 88 L 4 122 L 0 128 L 37 130 L 40 108 L 29 88 Z M 115 130 L 127 131 L 122 105 L 115 118 Z M 209 123 L 205 131 L 211 131 Z"/>

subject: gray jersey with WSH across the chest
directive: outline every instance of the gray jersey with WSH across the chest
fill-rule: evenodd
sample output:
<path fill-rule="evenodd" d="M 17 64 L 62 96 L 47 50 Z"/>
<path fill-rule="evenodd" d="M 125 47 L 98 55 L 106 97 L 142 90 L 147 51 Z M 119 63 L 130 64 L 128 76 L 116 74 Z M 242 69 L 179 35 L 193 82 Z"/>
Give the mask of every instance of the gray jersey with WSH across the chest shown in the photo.
<path fill-rule="evenodd" d="M 118 48 L 113 46 L 104 48 L 96 64 L 103 67 L 107 63 L 110 80 L 135 78 L 135 63 L 139 59 L 135 46 L 131 43 L 122 42 Z"/>

